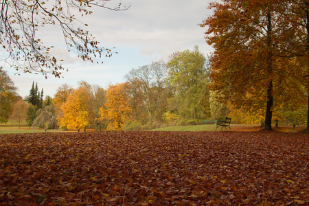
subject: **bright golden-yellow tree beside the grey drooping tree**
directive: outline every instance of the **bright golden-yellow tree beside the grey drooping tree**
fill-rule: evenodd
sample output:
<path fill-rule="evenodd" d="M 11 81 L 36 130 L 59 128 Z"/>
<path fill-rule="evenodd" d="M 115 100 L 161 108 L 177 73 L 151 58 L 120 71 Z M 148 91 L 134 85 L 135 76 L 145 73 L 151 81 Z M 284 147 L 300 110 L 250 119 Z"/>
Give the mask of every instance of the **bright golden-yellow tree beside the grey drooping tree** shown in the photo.
<path fill-rule="evenodd" d="M 89 113 L 86 102 L 89 100 L 87 91 L 84 87 L 80 87 L 73 91 L 67 98 L 65 104 L 61 106 L 63 117 L 59 119 L 59 126 L 68 129 L 85 128 L 89 124 Z"/>

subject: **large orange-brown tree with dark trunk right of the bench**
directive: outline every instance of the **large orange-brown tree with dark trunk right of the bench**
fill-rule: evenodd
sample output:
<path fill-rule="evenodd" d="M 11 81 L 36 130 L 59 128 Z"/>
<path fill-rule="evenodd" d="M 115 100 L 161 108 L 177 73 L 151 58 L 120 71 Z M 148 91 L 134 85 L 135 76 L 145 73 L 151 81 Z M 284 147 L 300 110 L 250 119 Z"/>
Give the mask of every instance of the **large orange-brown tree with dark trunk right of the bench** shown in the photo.
<path fill-rule="evenodd" d="M 301 91 L 299 76 L 279 49 L 288 41 L 284 34 L 290 29 L 282 17 L 286 1 L 220 2 L 210 4 L 214 14 L 201 24 L 207 27 L 207 43 L 214 47 L 209 59 L 211 90 L 238 108 L 265 105 L 264 129 L 271 130 L 276 104 L 282 97 L 293 100 L 293 93 Z"/>

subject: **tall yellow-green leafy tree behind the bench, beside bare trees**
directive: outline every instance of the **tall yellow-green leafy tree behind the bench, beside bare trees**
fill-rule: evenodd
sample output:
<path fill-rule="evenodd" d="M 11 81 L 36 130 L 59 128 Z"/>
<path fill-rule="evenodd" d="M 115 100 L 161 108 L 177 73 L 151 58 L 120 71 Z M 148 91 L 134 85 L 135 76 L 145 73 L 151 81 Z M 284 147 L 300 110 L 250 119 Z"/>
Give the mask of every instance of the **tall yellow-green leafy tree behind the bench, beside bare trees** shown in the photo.
<path fill-rule="evenodd" d="M 203 118 L 209 113 L 206 58 L 195 46 L 192 51 L 175 52 L 168 60 L 169 80 L 181 102 L 179 113 L 186 119 Z M 175 100 L 174 100 L 175 101 Z"/>

